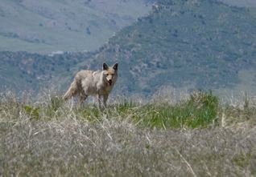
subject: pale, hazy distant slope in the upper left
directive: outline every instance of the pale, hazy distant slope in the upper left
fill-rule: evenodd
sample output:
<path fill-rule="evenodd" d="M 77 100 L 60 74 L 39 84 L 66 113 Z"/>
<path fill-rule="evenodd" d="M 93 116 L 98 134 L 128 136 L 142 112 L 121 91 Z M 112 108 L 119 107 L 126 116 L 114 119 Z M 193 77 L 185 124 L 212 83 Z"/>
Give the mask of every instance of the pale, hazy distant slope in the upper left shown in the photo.
<path fill-rule="evenodd" d="M 0 50 L 96 50 L 114 32 L 147 14 L 150 4 L 147 0 L 2 0 Z"/>

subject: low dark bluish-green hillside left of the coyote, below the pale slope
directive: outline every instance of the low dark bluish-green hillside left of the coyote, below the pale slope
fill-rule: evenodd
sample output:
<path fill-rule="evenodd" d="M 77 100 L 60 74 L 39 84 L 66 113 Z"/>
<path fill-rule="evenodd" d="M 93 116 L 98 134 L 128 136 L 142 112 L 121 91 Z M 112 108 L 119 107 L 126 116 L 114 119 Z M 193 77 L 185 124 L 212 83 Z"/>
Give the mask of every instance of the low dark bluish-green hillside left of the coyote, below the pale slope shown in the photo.
<path fill-rule="evenodd" d="M 26 91 L 36 95 L 46 88 L 60 88 L 73 77 L 71 73 L 81 69 L 80 63 L 93 54 L 64 53 L 50 56 L 0 52 L 0 91 L 11 90 L 19 94 Z M 73 66 L 76 66 L 76 70 L 73 70 Z"/>

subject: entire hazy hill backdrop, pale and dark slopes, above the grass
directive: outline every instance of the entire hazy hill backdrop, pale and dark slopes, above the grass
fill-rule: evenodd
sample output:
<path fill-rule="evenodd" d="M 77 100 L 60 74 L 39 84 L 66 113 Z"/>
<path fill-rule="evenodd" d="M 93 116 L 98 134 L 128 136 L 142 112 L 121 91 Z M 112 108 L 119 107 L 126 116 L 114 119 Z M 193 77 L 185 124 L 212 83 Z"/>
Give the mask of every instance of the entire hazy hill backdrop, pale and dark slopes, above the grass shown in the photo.
<path fill-rule="evenodd" d="M 4 2 L 2 91 L 63 91 L 78 70 L 119 62 L 115 91 L 126 95 L 165 86 L 255 93 L 253 1 Z"/>

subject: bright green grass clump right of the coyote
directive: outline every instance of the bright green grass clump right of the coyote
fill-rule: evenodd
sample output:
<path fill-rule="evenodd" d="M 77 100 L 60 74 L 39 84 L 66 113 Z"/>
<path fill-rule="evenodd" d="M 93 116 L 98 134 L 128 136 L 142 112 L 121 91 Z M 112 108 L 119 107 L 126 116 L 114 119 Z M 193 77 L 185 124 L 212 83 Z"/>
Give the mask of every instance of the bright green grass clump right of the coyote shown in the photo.
<path fill-rule="evenodd" d="M 217 122 L 218 104 L 216 96 L 200 93 L 173 106 L 146 105 L 134 120 L 142 127 L 152 128 L 207 127 Z"/>

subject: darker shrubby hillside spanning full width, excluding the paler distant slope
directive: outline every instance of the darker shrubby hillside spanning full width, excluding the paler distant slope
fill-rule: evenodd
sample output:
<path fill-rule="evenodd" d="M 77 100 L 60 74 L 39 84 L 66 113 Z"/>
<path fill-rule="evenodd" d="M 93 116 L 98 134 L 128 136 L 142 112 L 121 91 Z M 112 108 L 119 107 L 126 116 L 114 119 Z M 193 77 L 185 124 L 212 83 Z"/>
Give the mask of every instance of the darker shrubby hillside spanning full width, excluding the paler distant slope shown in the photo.
<path fill-rule="evenodd" d="M 119 62 L 115 92 L 122 95 L 152 95 L 164 86 L 255 94 L 255 34 L 249 9 L 212 0 L 159 0 L 148 16 L 94 52 L 0 52 L 1 91 L 64 91 L 81 68 Z"/>

